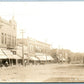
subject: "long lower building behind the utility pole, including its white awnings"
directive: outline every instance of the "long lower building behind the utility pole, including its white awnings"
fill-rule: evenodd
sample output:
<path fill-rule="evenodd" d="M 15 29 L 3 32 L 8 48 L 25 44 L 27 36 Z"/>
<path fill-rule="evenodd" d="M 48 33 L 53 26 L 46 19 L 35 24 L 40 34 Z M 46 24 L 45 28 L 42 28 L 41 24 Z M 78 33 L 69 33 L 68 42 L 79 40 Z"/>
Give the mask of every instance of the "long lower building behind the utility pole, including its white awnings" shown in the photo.
<path fill-rule="evenodd" d="M 34 60 L 37 62 L 52 62 L 50 56 L 51 45 L 32 38 L 23 39 L 24 59 Z M 17 39 L 17 55 L 22 56 L 22 39 Z"/>

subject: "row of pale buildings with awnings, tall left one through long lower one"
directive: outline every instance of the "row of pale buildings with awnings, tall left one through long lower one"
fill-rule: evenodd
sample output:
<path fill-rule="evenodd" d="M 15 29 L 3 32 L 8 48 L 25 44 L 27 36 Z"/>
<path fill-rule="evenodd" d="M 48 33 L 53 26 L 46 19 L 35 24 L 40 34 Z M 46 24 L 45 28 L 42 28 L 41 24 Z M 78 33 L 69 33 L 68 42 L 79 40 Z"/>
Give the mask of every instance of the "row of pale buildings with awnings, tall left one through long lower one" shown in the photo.
<path fill-rule="evenodd" d="M 14 17 L 6 21 L 0 17 L 0 60 L 3 63 L 22 62 L 22 44 L 24 45 L 24 60 L 52 61 L 50 56 L 51 45 L 32 39 L 17 39 L 17 24 Z M 17 61 L 18 60 L 18 61 Z"/>

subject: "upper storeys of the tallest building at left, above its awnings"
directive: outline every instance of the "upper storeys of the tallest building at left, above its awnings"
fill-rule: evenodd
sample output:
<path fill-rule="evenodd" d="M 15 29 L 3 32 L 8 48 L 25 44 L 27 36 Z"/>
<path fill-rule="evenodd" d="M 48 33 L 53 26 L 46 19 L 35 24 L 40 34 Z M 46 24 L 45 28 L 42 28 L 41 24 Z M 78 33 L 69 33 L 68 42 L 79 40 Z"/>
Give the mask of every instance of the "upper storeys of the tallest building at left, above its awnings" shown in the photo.
<path fill-rule="evenodd" d="M 14 17 L 9 21 L 0 17 L 0 48 L 14 48 L 16 46 L 16 27 Z"/>

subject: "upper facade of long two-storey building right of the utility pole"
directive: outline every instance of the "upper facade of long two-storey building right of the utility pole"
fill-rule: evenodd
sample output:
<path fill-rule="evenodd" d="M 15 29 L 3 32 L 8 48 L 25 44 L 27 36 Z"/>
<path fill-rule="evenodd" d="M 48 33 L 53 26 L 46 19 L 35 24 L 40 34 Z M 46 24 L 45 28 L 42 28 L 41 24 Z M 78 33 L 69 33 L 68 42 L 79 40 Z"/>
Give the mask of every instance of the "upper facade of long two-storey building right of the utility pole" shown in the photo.
<path fill-rule="evenodd" d="M 31 55 L 31 53 L 42 53 L 42 54 L 46 54 L 49 55 L 50 53 L 50 47 L 51 45 L 45 42 L 41 42 L 32 38 L 28 38 L 27 40 L 28 42 L 28 50 L 29 50 L 29 54 Z"/>

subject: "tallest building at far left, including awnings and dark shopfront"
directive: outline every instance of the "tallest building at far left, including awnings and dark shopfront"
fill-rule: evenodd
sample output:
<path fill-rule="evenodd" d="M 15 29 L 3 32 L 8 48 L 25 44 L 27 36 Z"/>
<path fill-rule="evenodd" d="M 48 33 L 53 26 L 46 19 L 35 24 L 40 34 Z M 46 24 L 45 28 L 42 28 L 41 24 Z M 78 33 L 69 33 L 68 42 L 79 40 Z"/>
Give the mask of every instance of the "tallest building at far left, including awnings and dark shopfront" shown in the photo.
<path fill-rule="evenodd" d="M 7 62 L 10 65 L 15 64 L 18 58 L 11 52 L 16 47 L 16 27 L 14 17 L 9 21 L 0 17 L 0 61 L 3 65 Z"/>

